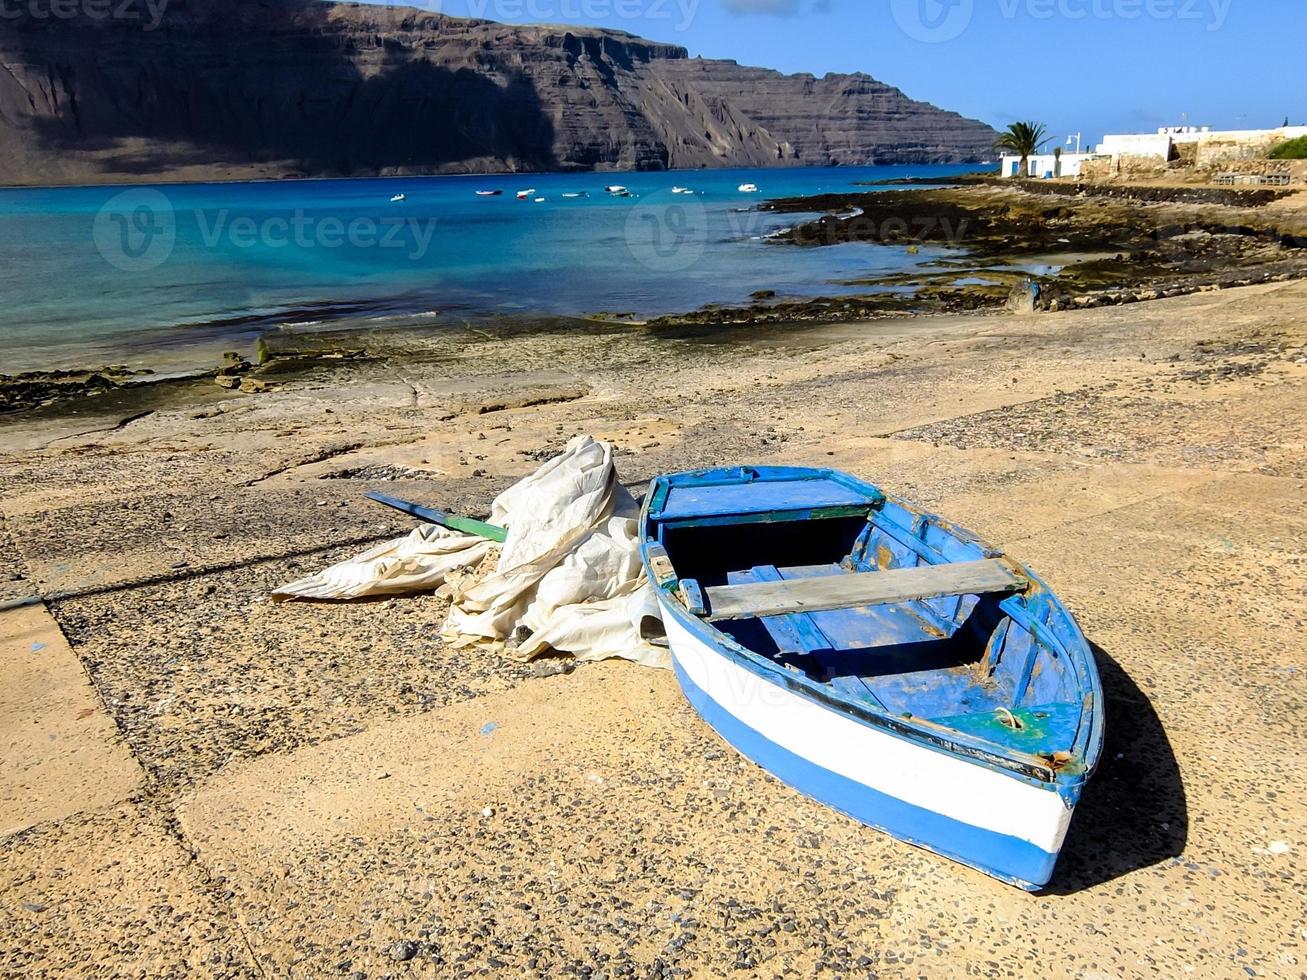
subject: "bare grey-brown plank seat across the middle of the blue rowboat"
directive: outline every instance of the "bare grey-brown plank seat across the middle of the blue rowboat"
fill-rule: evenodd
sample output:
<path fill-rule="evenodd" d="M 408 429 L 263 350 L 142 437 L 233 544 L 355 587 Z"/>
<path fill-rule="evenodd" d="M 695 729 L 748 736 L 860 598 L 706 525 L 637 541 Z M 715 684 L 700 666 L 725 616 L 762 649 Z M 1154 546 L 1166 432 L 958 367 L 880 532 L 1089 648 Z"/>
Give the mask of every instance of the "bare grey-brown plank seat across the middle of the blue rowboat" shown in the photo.
<path fill-rule="evenodd" d="M 907 602 L 914 598 L 1023 592 L 1026 580 L 997 558 L 923 564 L 878 572 L 827 575 L 789 581 L 718 585 L 707 593 L 708 621 Z"/>

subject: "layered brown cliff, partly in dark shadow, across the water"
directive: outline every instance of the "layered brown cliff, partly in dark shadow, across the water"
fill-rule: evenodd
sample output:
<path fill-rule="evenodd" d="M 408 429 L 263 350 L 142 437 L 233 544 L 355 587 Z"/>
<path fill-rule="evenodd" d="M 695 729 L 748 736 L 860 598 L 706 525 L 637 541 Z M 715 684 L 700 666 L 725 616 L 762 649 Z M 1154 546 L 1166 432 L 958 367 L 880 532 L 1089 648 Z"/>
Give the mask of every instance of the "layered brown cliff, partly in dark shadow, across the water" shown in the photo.
<path fill-rule="evenodd" d="M 865 74 L 612 30 L 316 0 L 174 0 L 150 30 L 16 9 L 0 183 L 957 162 L 996 136 Z"/>

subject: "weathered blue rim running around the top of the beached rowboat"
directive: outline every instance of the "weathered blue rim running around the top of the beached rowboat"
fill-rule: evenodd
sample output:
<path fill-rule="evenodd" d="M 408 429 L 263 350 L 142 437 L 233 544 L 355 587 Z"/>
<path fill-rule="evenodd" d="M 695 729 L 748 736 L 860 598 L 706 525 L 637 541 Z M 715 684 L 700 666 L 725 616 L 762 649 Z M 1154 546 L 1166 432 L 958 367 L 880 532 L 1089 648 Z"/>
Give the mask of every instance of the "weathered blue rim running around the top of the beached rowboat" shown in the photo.
<path fill-rule="evenodd" d="M 749 476 L 746 477 L 746 474 Z M 1009 618 L 1012 618 L 1018 626 L 1029 630 L 1033 639 L 1050 645 L 1055 653 L 1065 656 L 1073 665 L 1077 687 L 1081 691 L 1081 721 L 1068 751 L 1072 759 L 1078 760 L 1080 764 L 1057 767 L 1052 759 L 1043 755 L 1022 753 L 980 737 L 972 737 L 966 733 L 957 732 L 944 725 L 933 727 L 927 719 L 893 715 L 889 711 L 877 708 L 870 703 L 856 702 L 852 698 L 844 696 L 833 690 L 829 685 L 821 683 L 806 674 L 796 674 L 786 670 L 775 661 L 749 649 L 728 634 L 716 629 L 712 623 L 691 615 L 687 609 L 676 601 L 669 589 L 659 588 L 656 585 L 657 578 L 650 564 L 648 555 L 648 546 L 651 544 L 657 544 L 657 541 L 651 537 L 650 532 L 652 531 L 655 523 L 661 523 L 657 515 L 661 512 L 663 504 L 665 503 L 673 483 L 703 487 L 731 486 L 759 480 L 831 480 L 846 486 L 852 486 L 863 493 L 867 493 L 869 500 L 873 502 L 868 504 L 868 511 L 884 507 L 885 503 L 894 503 L 908 512 L 918 515 L 919 517 L 935 521 L 936 527 L 965 544 L 976 545 L 987 554 L 993 553 L 995 555 L 1005 557 L 1021 575 L 1030 580 L 1031 592 L 1027 595 L 1043 597 L 1055 612 L 1065 617 L 1067 623 L 1074 631 L 1073 644 L 1072 647 L 1068 647 L 1061 638 L 1053 635 L 1047 626 L 1038 622 L 1036 615 L 1027 608 L 1026 597 L 1013 595 L 1000 602 L 1001 612 L 1009 615 Z M 780 512 L 789 514 L 787 511 Z M 868 516 L 868 520 L 869 519 L 870 517 Z M 676 527 L 678 523 L 680 521 L 673 519 L 667 521 L 667 525 Z M 899 525 L 895 524 L 895 527 Z M 1002 770 L 1009 775 L 1025 779 L 1026 781 L 1036 785 L 1056 788 L 1056 791 L 1064 797 L 1078 794 L 1081 787 L 1084 787 L 1090 776 L 1093 776 L 1095 768 L 1098 767 L 1103 746 L 1102 679 L 1098 674 L 1093 651 L 1080 629 L 1080 623 L 1076 622 L 1074 615 L 1069 609 L 1067 609 L 1057 595 L 1027 566 L 1008 558 L 1001 550 L 993 549 L 970 531 L 924 511 L 902 498 L 886 494 L 880 487 L 861 481 L 852 474 L 831 469 L 809 469 L 799 466 L 738 466 L 731 469 L 706 469 L 690 473 L 657 476 L 651 481 L 650 489 L 644 497 L 644 503 L 640 508 L 640 561 L 644 564 L 650 581 L 655 583 L 655 589 L 659 593 L 660 605 L 664 612 L 669 612 L 674 615 L 684 627 L 699 639 L 711 644 L 721 652 L 723 656 L 728 656 L 732 661 L 738 662 L 741 666 L 762 677 L 770 683 L 800 694 L 801 696 L 822 704 L 823 707 L 840 711 L 861 724 L 886 730 L 895 737 L 924 745 L 935 751 L 940 751 L 954 758 L 965 758 L 975 764 L 985 766 L 987 768 Z M 1016 615 L 1013 613 L 1016 613 Z M 1089 703 L 1086 704 L 1085 702 Z"/>

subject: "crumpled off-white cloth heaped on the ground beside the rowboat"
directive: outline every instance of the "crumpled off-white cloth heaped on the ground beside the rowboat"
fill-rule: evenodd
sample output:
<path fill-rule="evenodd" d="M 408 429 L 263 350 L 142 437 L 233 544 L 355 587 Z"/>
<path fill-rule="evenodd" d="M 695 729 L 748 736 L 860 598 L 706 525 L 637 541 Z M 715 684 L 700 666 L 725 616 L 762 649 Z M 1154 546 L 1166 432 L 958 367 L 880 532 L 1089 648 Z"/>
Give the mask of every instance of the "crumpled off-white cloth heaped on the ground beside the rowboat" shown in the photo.
<path fill-rule="evenodd" d="M 657 600 L 639 557 L 639 508 L 617 481 L 613 449 L 572 439 L 501 494 L 490 523 L 508 529 L 495 571 L 457 588 L 442 635 L 456 644 L 502 642 L 520 627 L 524 659 L 554 649 L 576 660 L 670 668 Z M 286 598 L 359 598 L 434 589 L 473 568 L 493 545 L 434 525 L 379 545 L 273 592 Z"/>

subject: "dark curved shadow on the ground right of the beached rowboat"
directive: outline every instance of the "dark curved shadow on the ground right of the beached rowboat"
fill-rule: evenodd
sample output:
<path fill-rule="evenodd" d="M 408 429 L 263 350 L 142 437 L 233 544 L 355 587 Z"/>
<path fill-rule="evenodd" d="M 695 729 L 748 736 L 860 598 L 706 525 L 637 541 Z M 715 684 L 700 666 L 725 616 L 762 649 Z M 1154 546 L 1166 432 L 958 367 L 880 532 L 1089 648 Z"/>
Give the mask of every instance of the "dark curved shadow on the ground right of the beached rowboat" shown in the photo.
<path fill-rule="evenodd" d="M 1073 895 L 1184 851 L 1189 814 L 1171 742 L 1151 702 L 1102 647 L 1107 741 L 1043 894 Z"/>

